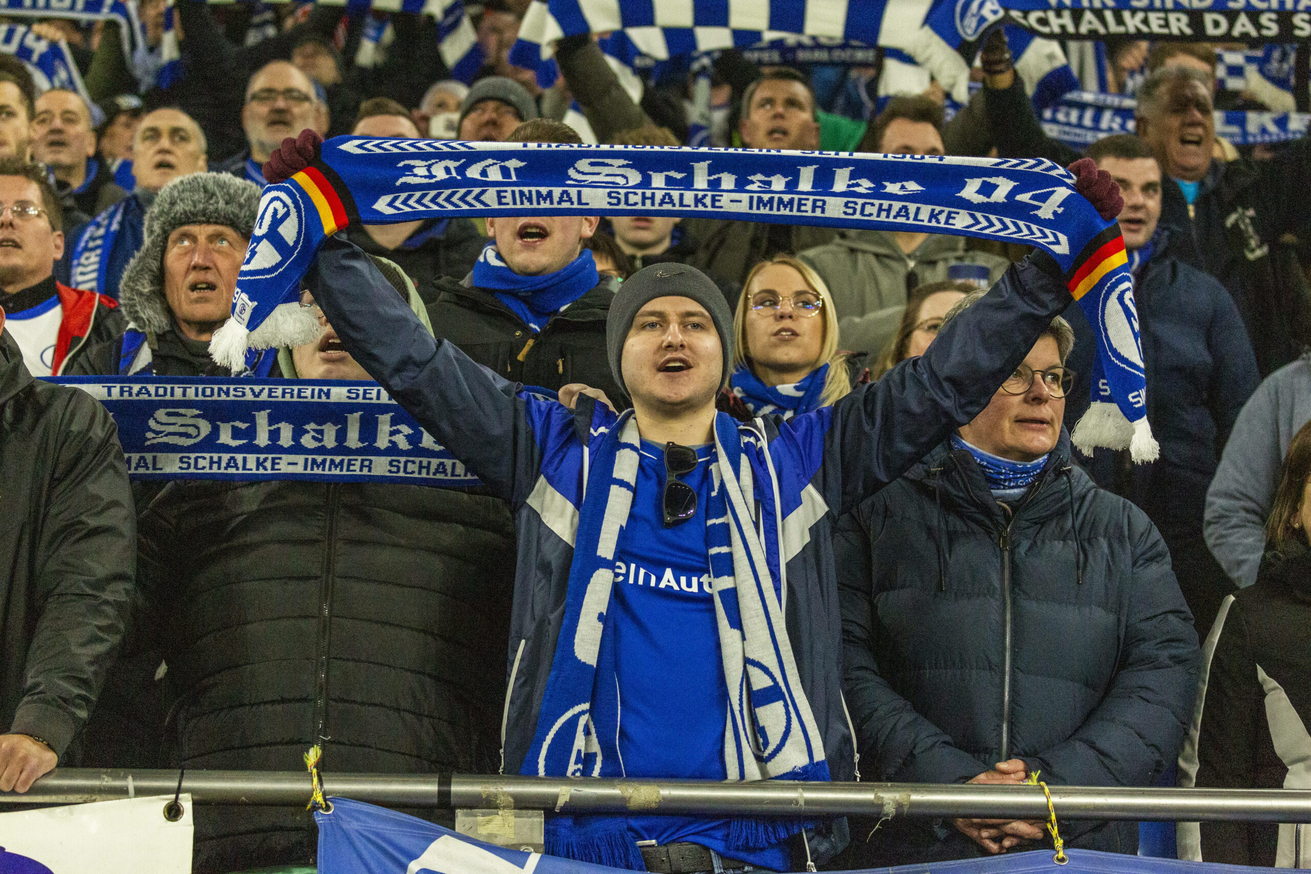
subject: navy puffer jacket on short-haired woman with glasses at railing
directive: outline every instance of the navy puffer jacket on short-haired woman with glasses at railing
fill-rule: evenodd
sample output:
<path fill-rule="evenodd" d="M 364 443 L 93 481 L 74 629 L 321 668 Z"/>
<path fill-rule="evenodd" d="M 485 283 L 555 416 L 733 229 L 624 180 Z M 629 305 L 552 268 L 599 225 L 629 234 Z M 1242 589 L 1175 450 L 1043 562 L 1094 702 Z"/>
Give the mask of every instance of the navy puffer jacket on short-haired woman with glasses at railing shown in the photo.
<path fill-rule="evenodd" d="M 867 780 L 965 782 L 1013 757 L 1050 784 L 1150 786 L 1175 760 L 1200 666 L 1192 616 L 1156 528 L 1071 465 L 1065 431 L 1013 516 L 944 443 L 842 519 L 836 553 Z M 895 844 L 920 861 L 982 852 L 919 829 Z M 1138 845 L 1134 823 L 1061 831 Z"/>

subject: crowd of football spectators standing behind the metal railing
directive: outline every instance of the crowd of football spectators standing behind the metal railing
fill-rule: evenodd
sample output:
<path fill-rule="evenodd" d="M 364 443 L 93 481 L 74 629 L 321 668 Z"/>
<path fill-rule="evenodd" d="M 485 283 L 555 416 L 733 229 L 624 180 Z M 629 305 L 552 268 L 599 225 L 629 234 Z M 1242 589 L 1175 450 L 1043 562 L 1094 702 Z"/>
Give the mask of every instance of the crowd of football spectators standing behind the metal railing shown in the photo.
<path fill-rule="evenodd" d="M 1213 46 L 1108 43 L 1106 88 L 1134 93 L 1135 132 L 1082 152 L 1045 131 L 1000 29 L 964 106 L 936 84 L 882 94 L 877 67 L 737 51 L 711 83 L 718 147 L 1070 165 L 1118 216 L 1155 461 L 1071 446 L 1097 335 L 1041 252 L 488 216 L 338 232 L 302 292 L 321 335 L 249 367 L 376 380 L 481 486 L 161 485 L 130 482 L 100 404 L 34 377 L 231 379 L 210 342 L 261 190 L 323 138 L 682 145 L 697 109 L 686 67 L 640 77 L 587 35 L 557 43 L 560 79 L 540 88 L 509 62 L 517 3 L 473 8 L 485 63 L 468 84 L 430 17 L 180 3 L 182 75 L 160 86 L 165 5 L 139 7 L 136 62 L 115 21 L 31 25 L 68 41 L 85 90 L 41 92 L 0 55 L 0 490 L 16 523 L 0 525 L 0 790 L 56 764 L 286 770 L 315 743 L 337 772 L 539 773 L 539 721 L 572 693 L 557 641 L 570 616 L 594 621 L 574 615 L 593 561 L 619 571 L 591 660 L 582 630 L 573 650 L 589 683 L 612 676 L 586 685 L 577 763 L 541 773 L 594 773 L 595 756 L 595 773 L 653 778 L 1311 789 L 1311 144 L 1218 138 L 1234 96 Z M 1266 85 L 1244 105 L 1276 101 Z M 754 442 L 730 446 L 724 422 Z M 608 493 L 585 491 L 597 470 Z M 753 487 L 760 531 L 734 527 L 730 549 L 716 523 L 735 525 Z M 734 731 L 767 744 L 725 685 L 742 654 L 717 592 L 751 582 L 743 542 L 785 570 L 781 600 L 755 604 L 785 615 L 771 676 L 812 748 L 780 740 L 783 770 L 729 755 Z M 747 651 L 756 634 L 738 636 Z M 1179 853 L 1301 866 L 1301 828 L 1194 824 Z M 315 833 L 298 808 L 198 807 L 195 870 L 295 870 Z M 1138 848 L 1135 823 L 1062 833 Z M 547 848 L 692 874 L 968 858 L 1045 835 L 548 816 Z"/>

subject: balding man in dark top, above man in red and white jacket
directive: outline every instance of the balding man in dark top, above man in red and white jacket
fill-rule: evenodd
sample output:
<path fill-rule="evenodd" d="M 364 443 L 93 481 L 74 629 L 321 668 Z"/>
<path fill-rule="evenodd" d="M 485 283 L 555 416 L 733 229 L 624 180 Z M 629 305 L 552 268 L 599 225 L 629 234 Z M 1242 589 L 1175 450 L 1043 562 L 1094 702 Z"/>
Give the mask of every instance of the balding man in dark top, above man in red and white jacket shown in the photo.
<path fill-rule="evenodd" d="M 80 94 L 51 88 L 37 98 L 35 109 L 31 156 L 55 174 L 66 212 L 71 207 L 92 216 L 127 197 L 96 155 L 96 128 Z"/>

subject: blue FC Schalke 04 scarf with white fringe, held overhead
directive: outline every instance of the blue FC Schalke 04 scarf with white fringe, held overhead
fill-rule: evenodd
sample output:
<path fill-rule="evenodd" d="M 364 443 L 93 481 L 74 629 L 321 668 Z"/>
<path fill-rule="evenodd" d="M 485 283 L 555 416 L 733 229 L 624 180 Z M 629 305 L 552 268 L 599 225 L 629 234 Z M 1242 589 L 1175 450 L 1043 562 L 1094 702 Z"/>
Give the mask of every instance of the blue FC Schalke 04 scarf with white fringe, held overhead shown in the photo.
<path fill-rule="evenodd" d="M 1155 459 L 1134 282 L 1124 240 L 1042 159 L 674 147 L 464 143 L 337 136 L 320 160 L 264 190 L 232 301 L 210 343 L 235 370 L 248 347 L 319 335 L 299 282 L 325 237 L 350 223 L 454 216 L 666 215 L 923 231 L 1036 245 L 1061 269 L 1097 333 L 1104 390 L 1076 446 Z"/>

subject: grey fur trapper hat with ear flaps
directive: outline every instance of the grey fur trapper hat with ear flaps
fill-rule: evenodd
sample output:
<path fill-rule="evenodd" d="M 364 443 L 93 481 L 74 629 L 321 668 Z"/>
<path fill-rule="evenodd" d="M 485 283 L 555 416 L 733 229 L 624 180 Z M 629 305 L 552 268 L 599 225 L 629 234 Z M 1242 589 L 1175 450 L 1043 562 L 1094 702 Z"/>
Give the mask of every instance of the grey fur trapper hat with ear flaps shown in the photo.
<path fill-rule="evenodd" d="M 146 212 L 146 242 L 118 284 L 123 314 L 142 330 L 166 332 L 173 325 L 164 297 L 168 236 L 187 224 L 223 224 L 249 237 L 258 212 L 258 186 L 227 173 L 191 173 L 160 189 Z"/>

